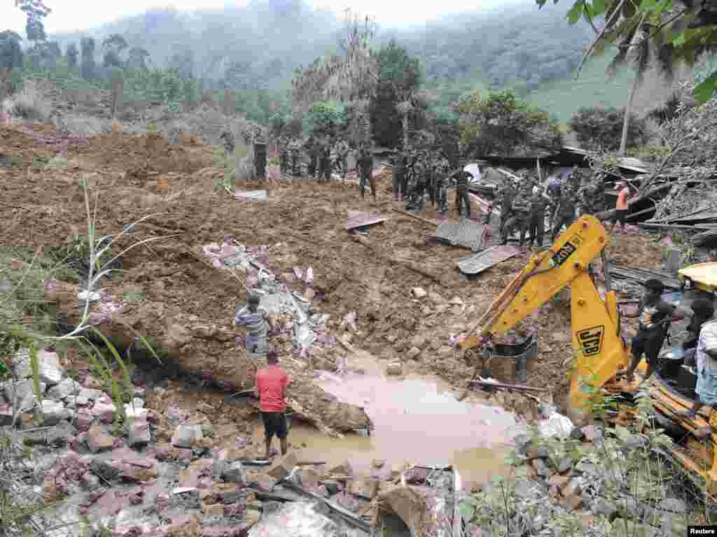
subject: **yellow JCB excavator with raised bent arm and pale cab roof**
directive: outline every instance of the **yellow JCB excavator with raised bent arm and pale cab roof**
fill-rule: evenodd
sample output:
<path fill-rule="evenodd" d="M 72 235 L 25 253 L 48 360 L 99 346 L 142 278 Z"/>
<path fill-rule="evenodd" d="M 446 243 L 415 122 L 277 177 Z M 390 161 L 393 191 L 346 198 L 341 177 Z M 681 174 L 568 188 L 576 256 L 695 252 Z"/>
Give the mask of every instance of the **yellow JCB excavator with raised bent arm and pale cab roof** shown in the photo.
<path fill-rule="evenodd" d="M 629 420 L 635 414 L 635 392 L 640 379 L 628 382 L 618 379 L 619 372 L 630 364 L 632 354 L 627 338 L 622 335 L 621 319 L 615 291 L 611 289 L 605 247 L 605 228 L 594 216 L 581 216 L 546 251 L 533 256 L 526 267 L 503 289 L 481 316 L 467 336 L 460 341 L 462 349 L 493 347 L 500 337 L 528 314 L 536 311 L 565 286 L 571 292 L 571 332 L 575 367 L 571 376 L 569 410 L 575 417 L 589 412 L 595 390 L 617 395 L 619 403 L 612 421 Z M 594 284 L 592 263 L 602 257 L 604 267 L 604 298 Z M 711 296 L 717 290 L 717 263 L 701 263 L 681 269 L 679 277 L 685 299 L 691 294 Z M 696 298 L 695 296 L 692 297 Z M 685 304 L 685 301 L 680 301 Z M 675 347 L 673 351 L 681 350 Z M 663 357 L 665 352 L 660 356 Z M 673 352 L 673 354 L 675 354 Z M 691 477 L 717 485 L 717 433 L 704 434 L 708 413 L 701 410 L 693 420 L 677 417 L 678 412 L 693 405 L 696 376 L 688 366 L 673 360 L 655 374 L 650 399 L 657 411 L 660 426 L 674 433 L 680 445 L 673 453 Z M 645 359 L 637 367 L 640 375 L 647 368 Z M 717 412 L 711 424 L 717 432 Z M 692 444 L 690 444 L 692 442 Z M 695 456 L 697 446 L 700 457 Z M 701 481 L 701 480 L 699 480 Z"/>

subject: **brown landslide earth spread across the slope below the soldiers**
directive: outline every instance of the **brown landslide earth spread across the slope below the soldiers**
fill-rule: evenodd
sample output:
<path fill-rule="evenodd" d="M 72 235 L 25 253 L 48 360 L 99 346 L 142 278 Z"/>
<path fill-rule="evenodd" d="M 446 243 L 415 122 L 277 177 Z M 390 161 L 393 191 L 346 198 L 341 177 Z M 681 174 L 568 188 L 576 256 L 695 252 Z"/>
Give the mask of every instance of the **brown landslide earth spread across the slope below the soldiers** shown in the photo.
<path fill-rule="evenodd" d="M 266 245 L 265 264 L 295 290 L 303 291 L 303 284 L 290 276 L 293 267 L 313 267 L 315 308 L 331 315 L 329 330 L 338 331 L 341 319 L 356 311 L 359 332 L 353 334 L 351 344 L 377 357 L 406 362 L 417 372 L 432 370 L 465 387 L 465 380 L 475 372 L 473 357 L 470 353 L 466 360 L 455 357 L 448 340 L 478 319 L 526 263 L 523 254 L 485 271 L 477 281 L 461 279 L 455 262 L 469 252 L 432 246 L 427 236 L 435 229 L 391 212 L 398 204 L 386 193 L 390 173 L 379 179 L 378 205 L 370 196 L 361 200 L 354 185 L 326 186 L 313 180 L 270 185 L 270 199 L 265 202 L 239 201 L 212 189 L 214 178 L 221 175 L 212 168 L 212 147 L 168 147 L 161 137 L 114 133 L 93 137 L 86 145 L 70 143 L 65 170 L 37 170 L 32 168 L 33 160 L 52 158 L 57 150 L 42 143 L 41 135 L 50 134 L 52 126 L 32 128 L 37 136 L 0 126 L 0 155 L 23 159 L 22 168 L 0 168 L 0 218 L 6 223 L 0 230 L 0 246 L 57 246 L 72 233 L 84 233 L 82 174 L 90 180 L 92 194 L 99 195 L 100 234 L 117 233 L 148 213 L 161 213 L 139 226 L 134 239 L 178 236 L 130 251 L 124 258 L 128 274 L 108 282 L 118 292 L 141 289 L 144 304 L 130 305 L 125 313 L 136 329 L 147 334 L 166 329 L 158 322 L 165 311 L 181 311 L 231 329 L 235 305 L 245 291 L 229 274 L 203 263 L 197 252 L 204 244 L 233 236 L 247 246 Z M 159 178 L 167 180 L 168 192 L 158 188 Z M 383 225 L 371 227 L 369 243 L 393 258 L 439 274 L 442 284 L 403 264 L 381 261 L 370 248 L 354 241 L 343 228 L 348 211 L 380 211 L 388 217 Z M 430 206 L 424 216 L 436 218 Z M 660 247 L 649 237 L 617 236 L 616 241 L 617 248 L 609 255 L 618 263 L 659 267 Z M 417 286 L 429 296 L 414 299 L 410 291 Z M 152 304 L 163 306 L 152 309 Z M 524 323 L 522 328 L 536 329 L 539 338 L 538 361 L 528 369 L 528 384 L 551 387 L 555 395 L 565 393 L 569 322 L 569 304 L 554 300 Z M 231 367 L 233 359 L 223 353 L 232 345 L 224 342 L 197 352 L 196 369 L 205 368 L 202 360 L 211 361 L 212 367 L 227 361 Z M 412 347 L 421 353 L 409 360 L 406 354 Z M 323 366 L 331 369 L 341 353 L 341 347 L 327 353 Z M 500 402 L 513 406 L 521 397 Z M 527 407 L 516 410 L 525 412 Z"/>

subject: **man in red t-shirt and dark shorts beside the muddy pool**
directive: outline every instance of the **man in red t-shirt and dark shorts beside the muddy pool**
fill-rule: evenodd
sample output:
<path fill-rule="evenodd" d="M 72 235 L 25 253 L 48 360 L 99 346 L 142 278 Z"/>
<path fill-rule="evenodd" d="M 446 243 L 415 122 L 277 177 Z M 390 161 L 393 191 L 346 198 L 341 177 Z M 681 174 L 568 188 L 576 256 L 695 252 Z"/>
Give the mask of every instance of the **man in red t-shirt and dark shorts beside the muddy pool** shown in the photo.
<path fill-rule="evenodd" d="M 270 458 L 271 440 L 277 435 L 281 444 L 281 454 L 288 450 L 288 427 L 286 426 L 286 387 L 289 376 L 279 367 L 279 357 L 275 350 L 267 353 L 267 367 L 257 371 L 255 393 L 259 397 L 259 410 L 262 412 L 266 439 L 266 458 Z"/>

